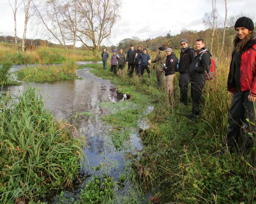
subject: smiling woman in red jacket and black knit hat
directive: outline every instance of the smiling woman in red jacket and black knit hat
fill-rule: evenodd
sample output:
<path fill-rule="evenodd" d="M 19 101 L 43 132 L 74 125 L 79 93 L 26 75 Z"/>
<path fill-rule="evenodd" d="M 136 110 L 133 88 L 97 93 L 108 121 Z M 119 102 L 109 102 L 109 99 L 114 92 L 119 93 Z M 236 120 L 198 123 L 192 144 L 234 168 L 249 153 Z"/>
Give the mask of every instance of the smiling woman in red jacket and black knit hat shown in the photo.
<path fill-rule="evenodd" d="M 242 135 L 240 151 L 244 152 L 253 145 L 251 135 L 255 136 L 256 132 L 256 36 L 253 32 L 254 23 L 247 17 L 237 19 L 235 30 L 236 37 L 228 77 L 228 91 L 233 99 L 229 110 L 226 145 L 229 149 L 237 146 Z M 225 148 L 220 154 L 224 152 Z"/>

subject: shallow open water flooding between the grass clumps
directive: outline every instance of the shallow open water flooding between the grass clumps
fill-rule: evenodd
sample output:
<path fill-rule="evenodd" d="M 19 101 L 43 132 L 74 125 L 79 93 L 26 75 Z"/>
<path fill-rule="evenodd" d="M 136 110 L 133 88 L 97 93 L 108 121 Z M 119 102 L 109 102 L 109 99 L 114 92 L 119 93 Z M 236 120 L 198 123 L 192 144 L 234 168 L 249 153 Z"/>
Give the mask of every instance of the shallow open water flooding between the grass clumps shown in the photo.
<path fill-rule="evenodd" d="M 72 123 L 76 113 L 89 112 L 92 115 L 79 115 L 76 119 L 78 136 L 85 136 L 87 142 L 84 148 L 86 164 L 82 172 L 88 175 L 92 172 L 91 167 L 101 165 L 108 168 L 108 175 L 117 180 L 119 175 L 125 172 L 126 152 L 116 151 L 111 139 L 108 138 L 108 130 L 111 127 L 102 122 L 101 117 L 109 114 L 111 110 L 100 104 L 101 102 L 118 103 L 128 97 L 118 93 L 115 84 L 90 73 L 91 68 L 86 67 L 87 63 L 91 62 L 78 62 L 79 65 L 85 65 L 84 70 L 77 70 L 77 75 L 83 79 L 55 83 L 31 83 L 31 86 L 39 89 L 45 99 L 46 108 L 57 120 L 67 119 Z M 19 68 L 19 65 L 14 65 L 11 72 Z M 10 86 L 9 90 L 12 94 L 17 94 L 18 91 L 22 92 L 26 86 L 27 83 L 22 82 L 20 86 Z M 147 112 L 151 110 L 152 107 L 148 107 Z M 142 129 L 147 128 L 147 123 L 143 120 L 139 120 L 138 124 Z M 130 136 L 127 145 L 128 149 L 133 151 L 141 151 L 143 148 L 138 133 Z M 54 200 L 56 201 L 56 198 L 52 198 L 51 202 L 54 203 Z"/>

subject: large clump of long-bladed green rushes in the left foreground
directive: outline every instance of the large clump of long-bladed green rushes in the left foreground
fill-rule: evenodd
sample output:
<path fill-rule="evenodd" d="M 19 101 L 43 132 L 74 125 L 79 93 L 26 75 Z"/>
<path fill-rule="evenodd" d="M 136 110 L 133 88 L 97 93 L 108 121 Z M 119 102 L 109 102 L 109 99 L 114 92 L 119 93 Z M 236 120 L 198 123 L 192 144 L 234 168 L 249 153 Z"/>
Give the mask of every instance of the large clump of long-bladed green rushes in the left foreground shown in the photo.
<path fill-rule="evenodd" d="M 31 87 L 0 106 L 0 203 L 37 202 L 72 187 L 83 157 L 73 126 L 54 120 Z"/>

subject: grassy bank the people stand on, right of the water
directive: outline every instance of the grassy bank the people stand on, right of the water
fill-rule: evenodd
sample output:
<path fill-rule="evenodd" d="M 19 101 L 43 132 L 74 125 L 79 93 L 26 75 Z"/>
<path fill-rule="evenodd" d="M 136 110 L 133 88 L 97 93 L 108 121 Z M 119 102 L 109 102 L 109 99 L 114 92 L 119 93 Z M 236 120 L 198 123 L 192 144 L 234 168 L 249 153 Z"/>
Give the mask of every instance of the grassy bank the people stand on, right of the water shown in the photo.
<path fill-rule="evenodd" d="M 161 203 L 256 202 L 256 147 L 245 155 L 238 151 L 221 157 L 213 155 L 226 136 L 227 111 L 231 103 L 231 96 L 226 91 L 229 59 L 217 59 L 217 77 L 206 82 L 202 114 L 196 121 L 186 118 L 192 110 L 191 98 L 188 106 L 177 103 L 178 74 L 175 93 L 168 104 L 164 91 L 156 88 L 154 70 L 153 77 L 145 78 L 143 83 L 137 77 L 130 79 L 127 70 L 114 76 L 109 67 L 104 71 L 98 65 L 92 71 L 111 79 L 119 91 L 136 98 L 135 103 L 145 100 L 136 97 L 143 93 L 149 103 L 155 104 L 149 116 L 150 129 L 141 134 L 145 145 L 143 153 L 139 160 L 134 160 L 130 176 L 133 175 L 136 184 L 145 192 L 152 192 Z M 118 127 L 122 130 L 122 125 L 115 125 L 116 130 Z"/>

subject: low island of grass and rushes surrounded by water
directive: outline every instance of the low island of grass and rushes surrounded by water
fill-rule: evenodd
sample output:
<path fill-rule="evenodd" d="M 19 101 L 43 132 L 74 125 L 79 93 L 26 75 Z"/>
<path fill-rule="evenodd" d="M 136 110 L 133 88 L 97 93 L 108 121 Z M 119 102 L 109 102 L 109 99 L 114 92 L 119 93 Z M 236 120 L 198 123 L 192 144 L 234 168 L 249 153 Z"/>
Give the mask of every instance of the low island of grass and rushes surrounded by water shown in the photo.
<path fill-rule="evenodd" d="M 26 82 L 54 82 L 64 79 L 78 79 L 75 73 L 76 62 L 69 60 L 62 65 L 37 65 L 22 67 L 17 71 L 17 78 Z"/>

